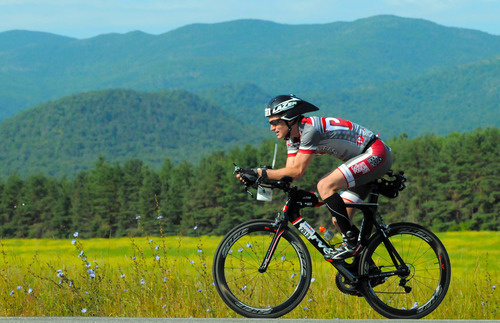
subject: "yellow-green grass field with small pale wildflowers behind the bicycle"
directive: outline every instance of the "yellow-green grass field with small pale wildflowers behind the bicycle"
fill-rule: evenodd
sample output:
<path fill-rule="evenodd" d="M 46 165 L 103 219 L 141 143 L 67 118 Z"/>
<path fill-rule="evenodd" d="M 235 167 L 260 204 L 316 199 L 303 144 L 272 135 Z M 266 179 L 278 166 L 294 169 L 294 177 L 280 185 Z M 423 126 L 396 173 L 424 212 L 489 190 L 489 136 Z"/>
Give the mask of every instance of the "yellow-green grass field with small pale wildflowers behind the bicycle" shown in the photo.
<path fill-rule="evenodd" d="M 75 234 L 76 235 L 76 234 Z M 499 319 L 499 232 L 438 234 L 452 281 L 428 319 Z M 239 317 L 212 285 L 221 237 L 0 241 L 0 316 Z M 382 318 L 342 294 L 311 250 L 313 283 L 284 318 Z"/>

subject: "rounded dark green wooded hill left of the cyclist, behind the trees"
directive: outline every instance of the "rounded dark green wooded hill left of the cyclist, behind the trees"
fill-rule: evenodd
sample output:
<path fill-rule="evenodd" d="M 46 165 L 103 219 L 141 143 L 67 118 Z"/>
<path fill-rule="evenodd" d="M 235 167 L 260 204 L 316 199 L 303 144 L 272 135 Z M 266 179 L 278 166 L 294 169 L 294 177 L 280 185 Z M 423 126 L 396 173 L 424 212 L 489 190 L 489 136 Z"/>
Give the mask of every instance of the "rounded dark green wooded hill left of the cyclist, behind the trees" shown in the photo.
<path fill-rule="evenodd" d="M 196 163 L 203 155 L 260 142 L 262 133 L 185 91 L 106 90 L 42 104 L 0 124 L 1 176 L 74 176 L 99 156 Z"/>

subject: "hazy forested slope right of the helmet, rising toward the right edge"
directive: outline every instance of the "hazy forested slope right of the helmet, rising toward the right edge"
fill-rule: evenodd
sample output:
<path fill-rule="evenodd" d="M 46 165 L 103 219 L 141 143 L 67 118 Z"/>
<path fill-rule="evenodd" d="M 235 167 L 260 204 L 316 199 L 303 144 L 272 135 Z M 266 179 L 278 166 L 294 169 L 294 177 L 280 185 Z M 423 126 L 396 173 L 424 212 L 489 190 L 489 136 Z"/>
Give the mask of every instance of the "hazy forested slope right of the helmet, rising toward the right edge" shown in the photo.
<path fill-rule="evenodd" d="M 339 114 L 384 138 L 471 131 L 500 126 L 500 56 L 448 68 L 411 81 L 353 91 L 312 93 L 324 113 Z"/>

